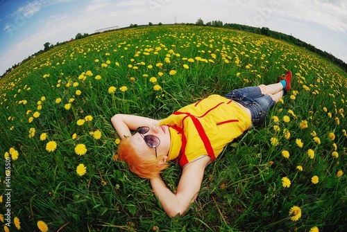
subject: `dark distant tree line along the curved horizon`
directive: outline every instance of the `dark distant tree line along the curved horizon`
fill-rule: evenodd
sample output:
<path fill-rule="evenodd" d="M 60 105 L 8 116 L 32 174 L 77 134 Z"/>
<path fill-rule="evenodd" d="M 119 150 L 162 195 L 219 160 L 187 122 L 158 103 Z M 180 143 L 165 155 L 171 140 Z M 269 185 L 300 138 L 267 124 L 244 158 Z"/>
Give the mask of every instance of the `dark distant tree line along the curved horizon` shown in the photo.
<path fill-rule="evenodd" d="M 306 48 L 308 51 L 312 51 L 313 53 L 316 53 L 318 55 L 320 55 L 321 57 L 325 58 L 326 60 L 329 60 L 330 62 L 332 62 L 333 64 L 336 64 L 337 66 L 339 66 L 341 69 L 343 69 L 345 72 L 347 72 L 347 64 L 342 61 L 341 59 L 335 57 L 334 55 L 332 55 L 331 53 L 328 53 L 326 51 L 321 51 L 319 48 L 314 47 L 312 44 L 307 44 L 306 42 L 301 41 L 300 39 L 297 39 L 291 35 L 286 35 L 283 33 L 279 33 L 273 30 L 270 30 L 269 28 L 266 27 L 262 27 L 262 28 L 257 28 L 254 26 L 246 26 L 246 25 L 241 25 L 241 24 L 223 24 L 222 21 L 220 20 L 216 20 L 216 21 L 209 21 L 208 23 L 204 24 L 203 23 L 203 19 L 198 19 L 196 21 L 195 24 L 189 23 L 189 24 L 185 24 L 185 25 L 191 25 L 191 26 L 213 26 L 213 27 L 218 27 L 218 28 L 230 28 L 230 29 L 235 29 L 235 30 L 243 30 L 249 33 L 255 33 L 255 34 L 259 34 L 259 35 L 265 35 L 268 37 L 272 37 L 274 39 L 280 39 L 282 41 L 285 42 L 289 42 L 291 44 L 295 44 L 296 46 L 301 46 L 303 48 Z M 149 22 L 148 25 L 141 25 L 141 26 L 154 26 L 153 23 Z M 160 22 L 158 24 L 158 26 L 162 26 L 162 23 Z M 139 27 L 137 24 L 130 24 L 130 26 L 125 27 L 125 28 L 118 28 L 118 29 L 114 29 L 114 30 L 124 30 L 126 28 L 137 28 Z M 105 31 L 103 33 L 109 32 L 112 30 L 108 30 Z M 75 39 L 83 39 L 85 37 L 89 37 L 91 35 L 96 35 L 99 33 L 93 33 L 93 34 L 87 34 L 87 33 L 78 33 L 76 35 L 75 38 L 71 38 L 69 41 L 65 41 L 65 42 L 57 42 L 56 44 L 51 44 L 49 42 L 46 42 L 44 44 L 44 49 L 38 51 L 37 53 L 33 54 L 33 55 L 29 55 L 26 59 L 24 59 L 22 62 L 18 63 L 18 64 L 14 64 L 12 65 L 11 68 L 7 69 L 5 73 L 3 73 L 3 75 L 0 76 L 0 79 L 3 78 L 4 75 L 6 75 L 7 73 L 9 73 L 10 71 L 12 71 L 13 69 L 15 69 L 17 66 L 23 64 L 24 62 L 27 62 L 28 60 L 33 59 L 34 57 L 36 57 L 37 55 L 40 55 L 46 51 L 51 50 L 51 48 L 54 48 L 56 46 L 60 46 L 62 44 L 67 44 L 68 42 L 71 42 L 72 40 Z"/>

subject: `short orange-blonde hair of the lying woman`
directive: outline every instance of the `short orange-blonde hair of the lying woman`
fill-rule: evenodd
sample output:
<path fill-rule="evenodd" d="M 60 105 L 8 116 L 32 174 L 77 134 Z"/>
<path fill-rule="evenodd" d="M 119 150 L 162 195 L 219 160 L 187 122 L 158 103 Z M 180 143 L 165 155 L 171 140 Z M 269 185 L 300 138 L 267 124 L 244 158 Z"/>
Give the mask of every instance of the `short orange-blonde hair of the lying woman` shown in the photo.
<path fill-rule="evenodd" d="M 118 159 L 128 163 L 129 170 L 134 172 L 139 177 L 145 179 L 153 179 L 169 167 L 168 163 L 158 166 L 158 159 L 163 159 L 165 154 L 155 157 L 145 157 L 137 154 L 135 148 L 130 143 L 130 139 L 126 138 L 119 143 L 118 146 Z"/>

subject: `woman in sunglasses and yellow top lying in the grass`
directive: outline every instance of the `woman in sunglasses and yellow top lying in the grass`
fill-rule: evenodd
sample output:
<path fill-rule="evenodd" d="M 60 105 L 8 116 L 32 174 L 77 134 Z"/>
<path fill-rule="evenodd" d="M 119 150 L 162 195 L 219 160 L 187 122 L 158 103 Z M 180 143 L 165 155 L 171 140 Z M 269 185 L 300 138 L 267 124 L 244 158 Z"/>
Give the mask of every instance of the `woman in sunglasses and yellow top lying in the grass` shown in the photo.
<path fill-rule="evenodd" d="M 183 215 L 198 195 L 205 167 L 226 144 L 263 123 L 266 113 L 290 88 L 291 71 L 287 71 L 276 84 L 236 89 L 224 97 L 211 95 L 162 121 L 116 114 L 111 121 L 121 138 L 119 159 L 139 177 L 150 179 L 169 217 Z M 160 178 L 171 160 L 183 168 L 176 194 Z"/>

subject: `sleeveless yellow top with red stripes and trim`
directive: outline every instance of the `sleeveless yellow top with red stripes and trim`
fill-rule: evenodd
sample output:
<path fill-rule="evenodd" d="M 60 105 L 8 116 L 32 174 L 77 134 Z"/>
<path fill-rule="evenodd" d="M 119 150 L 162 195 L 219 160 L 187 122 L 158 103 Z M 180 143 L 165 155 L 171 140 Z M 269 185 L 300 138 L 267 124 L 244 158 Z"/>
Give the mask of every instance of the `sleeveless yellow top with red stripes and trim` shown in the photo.
<path fill-rule="evenodd" d="M 211 161 L 224 146 L 251 127 L 251 118 L 237 103 L 217 94 L 187 105 L 160 122 L 171 135 L 169 161 L 187 163 L 208 155 Z"/>

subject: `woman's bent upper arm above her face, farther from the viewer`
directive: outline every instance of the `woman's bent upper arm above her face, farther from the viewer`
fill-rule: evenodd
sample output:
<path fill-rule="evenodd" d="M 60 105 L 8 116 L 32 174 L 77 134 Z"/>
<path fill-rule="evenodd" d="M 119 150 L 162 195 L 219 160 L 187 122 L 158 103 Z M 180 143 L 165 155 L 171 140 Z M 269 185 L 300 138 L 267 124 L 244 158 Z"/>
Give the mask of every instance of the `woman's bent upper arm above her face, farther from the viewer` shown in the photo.
<path fill-rule="evenodd" d="M 119 137 L 124 139 L 124 136 L 131 136 L 130 131 L 136 130 L 137 127 L 143 125 L 151 127 L 153 125 L 158 125 L 159 121 L 131 114 L 116 114 L 111 118 L 111 123 L 113 127 L 115 127 Z"/>

